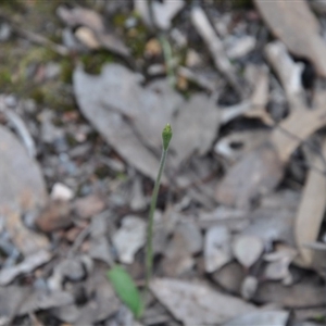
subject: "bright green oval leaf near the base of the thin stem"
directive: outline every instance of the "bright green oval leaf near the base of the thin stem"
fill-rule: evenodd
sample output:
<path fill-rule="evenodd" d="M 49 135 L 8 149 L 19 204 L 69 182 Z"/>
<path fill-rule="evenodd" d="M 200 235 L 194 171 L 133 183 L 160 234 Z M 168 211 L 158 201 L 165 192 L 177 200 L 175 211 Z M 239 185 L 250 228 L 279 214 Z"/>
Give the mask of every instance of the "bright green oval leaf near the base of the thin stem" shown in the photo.
<path fill-rule="evenodd" d="M 108 272 L 116 294 L 129 308 L 136 318 L 139 318 L 143 312 L 143 303 L 140 293 L 130 277 L 123 266 L 115 265 Z"/>

